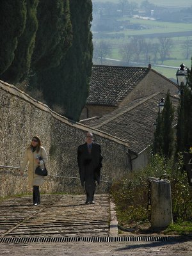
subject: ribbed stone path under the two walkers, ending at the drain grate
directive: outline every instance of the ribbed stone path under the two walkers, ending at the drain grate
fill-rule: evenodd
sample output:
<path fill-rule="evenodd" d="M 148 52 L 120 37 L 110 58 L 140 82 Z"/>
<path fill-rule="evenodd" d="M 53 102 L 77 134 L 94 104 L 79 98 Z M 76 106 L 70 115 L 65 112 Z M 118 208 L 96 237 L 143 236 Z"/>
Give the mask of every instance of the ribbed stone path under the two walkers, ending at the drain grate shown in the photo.
<path fill-rule="evenodd" d="M 0 237 L 109 236 L 109 196 L 42 195 L 40 205 L 31 196 L 0 202 Z"/>

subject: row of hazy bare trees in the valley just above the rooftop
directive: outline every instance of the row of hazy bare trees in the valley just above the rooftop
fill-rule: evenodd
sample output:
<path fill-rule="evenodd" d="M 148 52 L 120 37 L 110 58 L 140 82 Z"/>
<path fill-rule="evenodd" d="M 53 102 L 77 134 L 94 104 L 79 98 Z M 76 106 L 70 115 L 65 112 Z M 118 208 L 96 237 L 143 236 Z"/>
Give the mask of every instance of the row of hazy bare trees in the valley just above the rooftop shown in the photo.
<path fill-rule="evenodd" d="M 172 38 L 162 36 L 147 40 L 143 36 L 131 36 L 124 44 L 113 45 L 107 40 L 93 40 L 94 51 L 93 61 L 94 63 L 103 63 L 104 58 L 110 58 L 113 48 L 118 48 L 118 59 L 124 63 L 124 65 L 130 65 L 131 61 L 147 63 L 150 61 L 157 64 L 159 61 L 161 64 L 165 60 L 170 58 L 174 41 Z M 182 43 L 182 54 L 186 60 L 189 59 L 192 41 L 189 37 Z"/>

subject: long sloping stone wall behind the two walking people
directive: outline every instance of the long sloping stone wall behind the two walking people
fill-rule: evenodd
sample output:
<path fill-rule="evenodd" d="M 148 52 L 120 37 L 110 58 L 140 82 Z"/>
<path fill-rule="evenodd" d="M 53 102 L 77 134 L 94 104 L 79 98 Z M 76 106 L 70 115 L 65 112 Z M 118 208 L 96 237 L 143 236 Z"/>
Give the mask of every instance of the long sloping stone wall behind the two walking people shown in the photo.
<path fill-rule="evenodd" d="M 26 147 L 34 135 L 40 136 L 49 156 L 50 175 L 79 178 L 77 147 L 84 143 L 88 127 L 68 120 L 37 102 L 26 93 L 0 81 L 0 196 L 31 191 L 27 172 L 20 177 L 19 169 L 3 166 L 20 166 Z M 129 145 L 109 134 L 92 129 L 94 139 L 102 147 L 102 180 L 116 180 L 129 172 L 127 157 Z M 101 182 L 97 192 L 108 191 L 110 184 Z M 79 179 L 46 178 L 42 191 L 82 193 Z"/>

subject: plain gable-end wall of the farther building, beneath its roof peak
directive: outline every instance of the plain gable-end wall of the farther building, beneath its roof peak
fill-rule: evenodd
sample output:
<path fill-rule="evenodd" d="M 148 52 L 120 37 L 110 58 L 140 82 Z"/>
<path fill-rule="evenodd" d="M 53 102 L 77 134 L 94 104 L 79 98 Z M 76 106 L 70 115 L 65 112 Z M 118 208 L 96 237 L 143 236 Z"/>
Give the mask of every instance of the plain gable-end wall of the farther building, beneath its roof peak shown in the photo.
<path fill-rule="evenodd" d="M 156 92 L 167 93 L 168 90 L 170 90 L 170 95 L 176 95 L 178 91 L 172 81 L 157 74 L 154 70 L 150 70 L 147 76 L 145 76 L 132 92 L 120 102 L 119 107 L 125 106 L 128 102 L 131 102 L 134 99 L 139 99 Z M 161 99 L 159 99 L 159 101 L 160 100 Z"/>

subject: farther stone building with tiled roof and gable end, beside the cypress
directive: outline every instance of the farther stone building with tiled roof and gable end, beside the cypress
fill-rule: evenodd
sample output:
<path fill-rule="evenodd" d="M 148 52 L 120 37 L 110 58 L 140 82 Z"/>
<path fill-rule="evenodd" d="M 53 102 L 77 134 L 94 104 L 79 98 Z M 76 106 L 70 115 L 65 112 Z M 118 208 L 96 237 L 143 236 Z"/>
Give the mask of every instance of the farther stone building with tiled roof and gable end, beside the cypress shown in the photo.
<path fill-rule="evenodd" d="M 156 92 L 177 93 L 175 83 L 146 67 L 93 65 L 90 92 L 80 120 L 103 116 Z"/>

